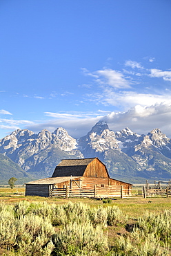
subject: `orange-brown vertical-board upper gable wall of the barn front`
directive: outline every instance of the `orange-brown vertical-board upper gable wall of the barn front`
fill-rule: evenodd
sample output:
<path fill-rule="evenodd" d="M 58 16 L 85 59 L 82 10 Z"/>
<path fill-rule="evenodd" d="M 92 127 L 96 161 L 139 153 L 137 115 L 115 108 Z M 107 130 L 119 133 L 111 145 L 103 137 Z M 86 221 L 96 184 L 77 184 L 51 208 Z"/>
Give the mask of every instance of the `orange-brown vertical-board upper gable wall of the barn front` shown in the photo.
<path fill-rule="evenodd" d="M 94 178 L 109 178 L 108 171 L 103 163 L 98 158 L 88 164 L 83 177 L 94 177 Z"/>

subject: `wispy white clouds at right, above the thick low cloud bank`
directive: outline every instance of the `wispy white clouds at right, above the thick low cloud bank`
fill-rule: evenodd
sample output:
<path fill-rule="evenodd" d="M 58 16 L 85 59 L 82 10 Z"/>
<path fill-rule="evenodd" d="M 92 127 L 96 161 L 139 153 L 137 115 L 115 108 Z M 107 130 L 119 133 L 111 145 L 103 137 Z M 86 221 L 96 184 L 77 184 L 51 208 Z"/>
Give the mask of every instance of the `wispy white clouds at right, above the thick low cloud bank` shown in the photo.
<path fill-rule="evenodd" d="M 149 57 L 147 58 L 149 60 Z M 154 58 L 151 59 L 153 60 Z M 127 70 L 127 68 L 123 69 L 123 73 L 108 68 L 94 71 L 93 74 L 96 77 L 94 77 L 93 81 L 99 84 L 99 90 L 87 94 L 85 101 L 95 102 L 98 105 L 114 106 L 121 111 L 126 111 L 137 104 L 144 107 L 152 104 L 161 104 L 162 102 L 170 102 L 171 95 L 169 92 L 166 93 L 164 91 L 164 85 L 162 84 L 162 91 L 161 87 L 156 87 L 155 93 L 154 86 L 150 86 L 151 89 L 147 89 L 148 81 L 145 80 L 145 77 L 162 77 L 163 80 L 171 81 L 171 71 L 161 71 L 154 68 L 148 70 L 141 66 L 140 63 L 133 62 L 132 60 L 125 62 L 125 66 L 139 68 L 140 73 L 136 72 L 135 69 Z M 90 71 L 86 69 L 86 72 L 90 75 Z M 144 77 L 143 81 L 142 77 Z M 149 91 L 152 91 L 152 93 L 149 93 Z"/>

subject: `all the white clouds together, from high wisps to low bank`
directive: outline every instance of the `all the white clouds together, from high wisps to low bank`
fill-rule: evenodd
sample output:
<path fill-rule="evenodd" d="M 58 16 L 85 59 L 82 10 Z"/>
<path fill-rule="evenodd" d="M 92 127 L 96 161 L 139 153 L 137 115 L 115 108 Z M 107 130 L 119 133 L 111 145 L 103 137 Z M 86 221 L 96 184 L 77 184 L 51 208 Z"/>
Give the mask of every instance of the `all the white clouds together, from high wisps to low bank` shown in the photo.
<path fill-rule="evenodd" d="M 152 62 L 149 57 L 147 60 Z M 99 104 L 101 109 L 96 113 L 93 111 L 88 113 L 81 111 L 68 111 L 66 113 L 47 111 L 44 114 L 47 117 L 46 119 L 50 120 L 30 122 L 28 120 L 0 119 L 0 128 L 18 129 L 20 127 L 21 129 L 31 129 L 37 133 L 42 129 L 54 131 L 57 127 L 63 127 L 71 136 L 79 138 L 86 135 L 92 126 L 103 118 L 107 120 L 110 129 L 114 131 L 128 126 L 132 131 L 136 131 L 139 134 L 147 134 L 151 129 L 159 127 L 167 136 L 171 136 L 170 91 L 165 91 L 163 94 L 160 91 L 161 89 L 156 87 L 157 93 L 154 93 L 154 90 L 149 93 L 152 88 L 154 89 L 154 86 L 152 84 L 149 86 L 148 81 L 145 80 L 141 84 L 139 82 L 139 76 L 142 75 L 148 80 L 153 80 L 150 77 L 162 77 L 165 81 L 171 81 L 171 71 L 161 71 L 155 68 L 148 70 L 140 63 L 131 60 L 125 62 L 125 69 L 122 72 L 110 68 L 103 68 L 92 73 L 86 68 L 82 68 L 82 71 L 84 75 L 92 80 L 82 86 L 90 87 L 96 84 L 96 91 L 92 91 L 94 89 L 94 86 L 92 86 L 92 93 L 81 99 L 82 101 L 78 99 L 77 102 L 95 102 L 95 104 Z M 136 81 L 132 80 L 133 75 L 136 76 L 133 78 Z M 137 83 L 136 86 L 134 86 L 135 83 Z M 149 89 L 147 89 L 148 87 Z M 63 95 L 65 94 L 71 95 L 73 93 L 65 91 Z M 60 93 L 52 91 L 50 96 L 55 98 L 57 95 L 60 96 Z M 34 98 L 43 99 L 43 97 L 35 95 Z M 119 109 L 119 111 L 105 111 L 101 107 L 102 105 L 110 106 L 112 109 Z M 92 107 L 94 108 L 94 106 Z M 3 109 L 0 113 L 11 115 L 10 112 Z"/>

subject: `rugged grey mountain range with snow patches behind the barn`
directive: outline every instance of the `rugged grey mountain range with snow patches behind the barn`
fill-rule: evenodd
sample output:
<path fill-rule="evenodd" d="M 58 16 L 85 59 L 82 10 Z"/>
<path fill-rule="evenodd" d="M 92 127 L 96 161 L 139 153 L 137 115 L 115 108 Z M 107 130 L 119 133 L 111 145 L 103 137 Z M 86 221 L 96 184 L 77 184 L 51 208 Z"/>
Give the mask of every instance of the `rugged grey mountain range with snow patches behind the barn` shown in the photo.
<path fill-rule="evenodd" d="M 79 139 L 61 127 L 52 133 L 44 129 L 39 134 L 17 129 L 0 140 L 0 154 L 19 165 L 28 179 L 52 176 L 61 159 L 92 157 L 103 161 L 114 179 L 171 179 L 171 140 L 160 129 L 153 129 L 146 136 L 128 127 L 114 132 L 100 121 Z M 0 178 L 7 176 L 0 169 Z"/>

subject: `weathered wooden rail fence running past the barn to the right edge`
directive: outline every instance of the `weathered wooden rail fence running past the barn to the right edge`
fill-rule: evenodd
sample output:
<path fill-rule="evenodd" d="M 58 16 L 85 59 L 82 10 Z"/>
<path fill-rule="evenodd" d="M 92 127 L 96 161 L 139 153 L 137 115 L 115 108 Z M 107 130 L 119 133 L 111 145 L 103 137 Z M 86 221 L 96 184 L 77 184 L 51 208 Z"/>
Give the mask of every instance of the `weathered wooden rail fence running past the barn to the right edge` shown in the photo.
<path fill-rule="evenodd" d="M 114 188 L 114 186 L 109 186 L 108 188 L 101 188 L 100 186 L 94 185 L 94 189 L 90 188 L 53 188 L 50 190 L 50 197 L 94 197 L 94 198 L 152 198 L 152 197 L 170 197 L 171 189 L 129 189 L 126 190 L 123 186 L 119 188 Z"/>

